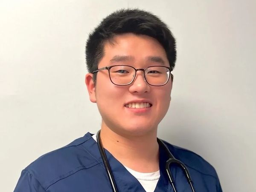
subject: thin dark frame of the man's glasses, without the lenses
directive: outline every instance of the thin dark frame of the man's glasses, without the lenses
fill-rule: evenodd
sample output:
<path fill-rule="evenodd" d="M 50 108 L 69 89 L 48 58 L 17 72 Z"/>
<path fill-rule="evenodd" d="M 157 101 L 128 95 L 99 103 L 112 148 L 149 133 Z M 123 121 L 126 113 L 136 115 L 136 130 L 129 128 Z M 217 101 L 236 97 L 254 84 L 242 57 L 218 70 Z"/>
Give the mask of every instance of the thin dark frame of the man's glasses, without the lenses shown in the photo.
<path fill-rule="evenodd" d="M 133 69 L 135 70 L 135 75 L 134 75 L 134 77 L 133 77 L 133 79 L 131 80 L 130 83 L 127 83 L 127 84 L 124 84 L 124 85 L 118 85 L 118 84 L 116 84 L 116 83 L 113 83 L 113 81 L 112 81 L 112 79 L 111 79 L 111 77 L 110 77 L 110 69 L 111 69 L 112 67 L 115 67 L 115 66 L 128 66 L 128 67 L 131 67 L 131 68 L 133 68 Z M 134 68 L 133 66 L 129 66 L 129 65 L 113 65 L 113 66 L 105 66 L 105 67 L 102 67 L 102 68 L 100 68 L 100 69 L 97 69 L 97 70 L 93 71 L 92 74 L 95 74 L 95 73 L 97 73 L 97 72 L 99 72 L 99 71 L 108 69 L 108 76 L 109 76 L 109 79 L 111 80 L 111 82 L 112 82 L 114 85 L 117 85 L 117 86 L 127 86 L 127 85 L 130 85 L 131 83 L 134 82 L 134 79 L 135 79 L 135 77 L 136 77 L 136 75 L 137 75 L 137 71 L 143 71 L 144 80 L 148 83 L 148 81 L 147 81 L 147 79 L 146 79 L 146 76 L 145 76 L 145 71 L 146 71 L 148 68 L 150 68 L 150 67 L 165 67 L 165 68 L 169 69 L 170 75 L 169 75 L 168 80 L 166 81 L 166 83 L 168 83 L 170 77 L 171 77 L 171 79 L 173 80 L 173 75 L 172 75 L 172 73 L 171 73 L 172 70 L 173 70 L 173 68 L 172 68 L 172 67 L 167 67 L 167 66 L 149 66 L 149 67 L 147 67 L 147 68 L 145 68 L 145 69 L 141 69 L 141 68 L 136 69 L 136 68 Z M 151 85 L 150 83 L 148 83 L 148 85 L 151 85 L 151 86 L 164 86 L 166 83 L 164 83 L 163 85 Z"/>

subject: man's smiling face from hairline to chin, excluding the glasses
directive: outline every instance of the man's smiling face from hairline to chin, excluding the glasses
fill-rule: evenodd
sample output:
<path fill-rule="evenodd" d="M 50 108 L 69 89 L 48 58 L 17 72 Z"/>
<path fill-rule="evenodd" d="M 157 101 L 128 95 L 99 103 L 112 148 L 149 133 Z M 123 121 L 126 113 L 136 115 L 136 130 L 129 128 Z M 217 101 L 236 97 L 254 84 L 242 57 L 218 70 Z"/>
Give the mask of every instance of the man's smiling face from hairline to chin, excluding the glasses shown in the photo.
<path fill-rule="evenodd" d="M 152 57 L 160 59 L 152 60 Z M 127 33 L 116 35 L 111 43 L 105 43 L 104 56 L 98 69 L 113 65 L 145 69 L 159 65 L 169 67 L 169 62 L 157 40 L 146 35 Z M 90 100 L 97 103 L 102 116 L 102 126 L 117 134 L 145 135 L 156 132 L 157 125 L 169 108 L 171 78 L 164 86 L 151 86 L 145 82 L 143 72 L 138 71 L 132 84 L 117 86 L 111 83 L 108 70 L 102 70 L 97 73 L 96 86 L 91 74 L 87 75 L 86 83 Z M 134 109 L 136 105 L 142 108 Z"/>

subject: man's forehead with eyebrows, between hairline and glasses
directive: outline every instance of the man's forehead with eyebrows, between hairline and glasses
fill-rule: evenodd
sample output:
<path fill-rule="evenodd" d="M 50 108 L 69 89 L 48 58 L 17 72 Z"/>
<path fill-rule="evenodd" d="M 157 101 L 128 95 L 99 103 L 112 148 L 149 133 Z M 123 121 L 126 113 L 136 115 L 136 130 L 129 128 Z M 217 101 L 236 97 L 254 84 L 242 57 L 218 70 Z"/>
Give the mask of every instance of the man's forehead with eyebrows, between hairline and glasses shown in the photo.
<path fill-rule="evenodd" d="M 143 63 L 148 60 L 161 60 L 163 65 L 169 66 L 166 52 L 156 39 L 147 35 L 126 33 L 116 35 L 104 43 L 104 54 L 99 67 L 118 61 Z"/>

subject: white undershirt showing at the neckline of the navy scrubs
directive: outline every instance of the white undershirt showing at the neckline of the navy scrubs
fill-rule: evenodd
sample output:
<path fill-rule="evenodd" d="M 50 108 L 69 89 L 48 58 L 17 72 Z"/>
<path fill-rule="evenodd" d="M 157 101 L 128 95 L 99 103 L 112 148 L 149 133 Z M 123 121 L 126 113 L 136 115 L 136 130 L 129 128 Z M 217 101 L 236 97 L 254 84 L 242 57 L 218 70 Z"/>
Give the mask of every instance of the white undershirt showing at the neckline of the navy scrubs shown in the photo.
<path fill-rule="evenodd" d="M 96 140 L 96 134 L 92 136 L 94 140 Z M 134 171 L 126 166 L 124 166 L 128 172 L 131 173 L 143 186 L 146 192 L 154 192 L 154 189 L 157 186 L 157 182 L 160 178 L 160 171 L 158 170 L 157 172 L 152 172 L 152 173 L 141 173 Z"/>

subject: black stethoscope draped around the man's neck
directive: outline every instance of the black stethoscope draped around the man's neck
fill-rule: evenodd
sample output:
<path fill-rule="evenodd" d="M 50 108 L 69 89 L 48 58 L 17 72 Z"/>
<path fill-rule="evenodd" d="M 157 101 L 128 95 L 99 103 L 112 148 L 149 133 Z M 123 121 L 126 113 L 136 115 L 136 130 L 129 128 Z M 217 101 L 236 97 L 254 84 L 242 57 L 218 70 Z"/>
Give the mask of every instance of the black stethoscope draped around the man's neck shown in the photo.
<path fill-rule="evenodd" d="M 101 142 L 101 139 L 100 139 L 100 130 L 97 132 L 96 138 L 97 138 L 97 143 L 98 143 L 98 146 L 99 146 L 99 152 L 100 152 L 100 155 L 102 157 L 103 163 L 105 165 L 106 172 L 108 174 L 108 178 L 109 178 L 109 181 L 111 183 L 112 190 L 113 190 L 113 192 L 117 192 L 116 182 L 114 180 L 111 168 L 109 166 L 107 156 L 106 156 L 105 151 L 102 147 L 102 142 Z M 168 175 L 168 178 L 169 178 L 169 182 L 171 183 L 172 188 L 174 189 L 174 192 L 177 192 L 177 190 L 175 188 L 174 180 L 173 180 L 172 173 L 171 173 L 171 170 L 170 170 L 170 166 L 172 164 L 176 164 L 176 165 L 180 166 L 183 169 L 183 172 L 186 175 L 187 181 L 190 184 L 192 192 L 195 192 L 193 184 L 192 184 L 191 177 L 189 175 L 189 170 L 186 168 L 186 166 L 180 160 L 175 159 L 175 157 L 172 155 L 172 153 L 169 151 L 169 149 L 163 143 L 162 140 L 157 138 L 157 142 L 160 146 L 162 146 L 165 149 L 166 153 L 168 154 L 169 160 L 166 161 L 166 172 L 167 172 L 167 175 Z"/>

